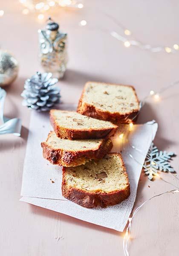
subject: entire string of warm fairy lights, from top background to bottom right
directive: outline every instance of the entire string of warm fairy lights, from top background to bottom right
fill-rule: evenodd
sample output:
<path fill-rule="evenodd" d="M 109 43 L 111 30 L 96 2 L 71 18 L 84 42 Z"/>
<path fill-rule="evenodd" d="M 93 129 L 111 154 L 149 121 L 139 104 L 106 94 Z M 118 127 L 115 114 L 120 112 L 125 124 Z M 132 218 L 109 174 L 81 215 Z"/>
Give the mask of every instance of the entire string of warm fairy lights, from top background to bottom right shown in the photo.
<path fill-rule="evenodd" d="M 22 10 L 23 15 L 28 15 L 30 12 L 36 12 L 37 13 L 37 18 L 38 20 L 44 20 L 46 17 L 46 13 L 54 8 L 54 7 L 67 7 L 67 8 L 75 8 L 75 9 L 82 9 L 84 8 L 83 3 L 75 1 L 75 0 L 19 0 L 19 2 L 23 5 L 24 9 Z M 4 10 L 0 10 L 0 17 L 3 17 L 5 14 Z M 133 37 L 133 33 L 130 31 L 130 29 L 126 28 L 123 26 L 121 23 L 118 22 L 114 17 L 104 14 L 106 17 L 110 18 L 113 20 L 113 22 L 118 26 L 118 29 L 120 31 L 108 31 L 108 33 L 115 38 L 116 40 L 120 41 L 124 47 L 129 48 L 131 46 L 133 47 L 138 47 L 143 50 L 147 50 L 149 52 L 166 52 L 166 53 L 176 53 L 179 51 L 179 44 L 173 44 L 172 46 L 152 46 L 150 44 L 144 44 L 135 37 Z M 81 20 L 79 22 L 79 26 L 87 26 L 88 22 L 87 20 Z M 103 29 L 101 29 L 103 31 Z M 161 94 L 165 92 L 165 90 L 173 87 L 174 85 L 179 84 L 179 81 L 175 81 L 174 83 L 170 84 L 167 87 L 162 88 L 159 90 L 159 92 L 155 92 L 154 90 L 150 90 L 149 95 L 147 95 L 141 102 L 140 102 L 140 111 L 142 106 L 144 105 L 145 101 L 149 99 L 150 97 L 153 97 L 156 101 L 159 101 L 161 99 Z M 139 111 L 139 112 L 140 112 Z M 138 113 L 139 114 L 139 113 Z M 137 115 L 138 115 L 137 114 Z M 136 118 L 136 116 L 134 116 Z M 133 119 L 134 119 L 133 118 Z M 129 123 L 129 131 L 132 131 L 133 129 L 133 120 Z M 119 135 L 119 139 L 123 140 L 124 139 L 124 133 L 121 133 Z M 133 156 L 130 156 L 133 157 Z M 144 201 L 139 207 L 136 208 L 136 210 L 133 212 L 133 215 L 128 219 L 128 224 L 127 224 L 127 229 L 124 235 L 124 240 L 123 240 L 123 248 L 124 248 L 124 255 L 129 256 L 129 252 L 127 249 L 128 242 L 130 240 L 130 232 L 131 232 L 131 224 L 134 216 L 137 214 L 137 212 L 141 209 L 141 207 L 144 206 L 147 202 L 153 200 L 153 198 L 160 197 L 162 195 L 165 195 L 167 193 L 178 193 L 179 192 L 179 187 L 173 185 L 170 182 L 167 182 L 166 180 L 162 179 L 162 177 L 159 176 L 158 173 L 156 173 L 156 177 L 159 177 L 161 180 L 163 180 L 166 183 L 169 183 L 170 185 L 176 187 L 177 189 L 173 189 L 170 191 L 166 191 L 163 193 L 160 193 L 158 195 L 154 195 L 153 197 L 147 199 Z M 175 177 L 175 176 L 174 176 Z M 177 178 L 177 177 L 176 177 Z M 178 179 L 178 178 L 177 178 Z"/>

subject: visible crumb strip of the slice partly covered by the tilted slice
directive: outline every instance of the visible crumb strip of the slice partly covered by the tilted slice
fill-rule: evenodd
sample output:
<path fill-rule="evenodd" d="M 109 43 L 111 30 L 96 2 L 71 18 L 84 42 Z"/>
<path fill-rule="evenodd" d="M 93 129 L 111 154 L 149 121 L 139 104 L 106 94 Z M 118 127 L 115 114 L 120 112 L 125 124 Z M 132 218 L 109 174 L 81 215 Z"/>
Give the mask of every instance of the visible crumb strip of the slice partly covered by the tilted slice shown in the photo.
<path fill-rule="evenodd" d="M 64 151 L 88 151 L 98 149 L 103 142 L 99 140 L 66 140 L 56 136 L 55 131 L 51 131 L 46 143 L 54 149 L 63 149 Z"/>

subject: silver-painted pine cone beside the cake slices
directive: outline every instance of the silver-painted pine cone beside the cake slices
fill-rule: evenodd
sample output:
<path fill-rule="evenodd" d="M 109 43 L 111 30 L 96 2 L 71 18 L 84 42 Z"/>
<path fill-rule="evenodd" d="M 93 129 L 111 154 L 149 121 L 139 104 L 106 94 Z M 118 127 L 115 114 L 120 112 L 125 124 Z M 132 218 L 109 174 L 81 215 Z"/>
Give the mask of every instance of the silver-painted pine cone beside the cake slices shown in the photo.
<path fill-rule="evenodd" d="M 57 78 L 52 73 L 37 72 L 24 84 L 21 96 L 22 105 L 37 111 L 49 111 L 53 105 L 60 102 L 60 89 L 56 87 Z"/>

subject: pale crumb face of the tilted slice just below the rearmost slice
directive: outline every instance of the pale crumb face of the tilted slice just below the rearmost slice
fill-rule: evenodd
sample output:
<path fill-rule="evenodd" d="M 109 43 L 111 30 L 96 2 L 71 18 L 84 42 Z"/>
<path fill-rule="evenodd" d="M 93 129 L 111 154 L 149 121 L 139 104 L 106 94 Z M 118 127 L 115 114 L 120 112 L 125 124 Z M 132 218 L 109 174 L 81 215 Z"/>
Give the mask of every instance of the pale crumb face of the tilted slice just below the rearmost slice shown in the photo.
<path fill-rule="evenodd" d="M 69 129 L 77 129 L 77 130 L 89 130 L 90 129 L 107 129 L 107 128 L 115 128 L 111 122 L 102 121 L 98 119 L 91 118 L 89 116 L 83 116 L 74 111 L 59 111 L 53 110 L 52 114 L 55 118 L 55 122 L 59 125 L 59 127 Z"/>

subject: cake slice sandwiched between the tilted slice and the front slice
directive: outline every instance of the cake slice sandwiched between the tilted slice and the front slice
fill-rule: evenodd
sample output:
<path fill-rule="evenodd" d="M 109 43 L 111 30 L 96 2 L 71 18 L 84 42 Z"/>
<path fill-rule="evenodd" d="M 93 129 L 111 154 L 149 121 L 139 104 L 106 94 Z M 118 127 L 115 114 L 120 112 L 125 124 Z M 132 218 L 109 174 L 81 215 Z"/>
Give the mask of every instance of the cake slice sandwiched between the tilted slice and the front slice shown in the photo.
<path fill-rule="evenodd" d="M 55 131 L 51 131 L 41 146 L 43 157 L 50 163 L 68 167 L 104 157 L 113 147 L 113 143 L 110 139 L 65 140 L 58 138 Z"/>

